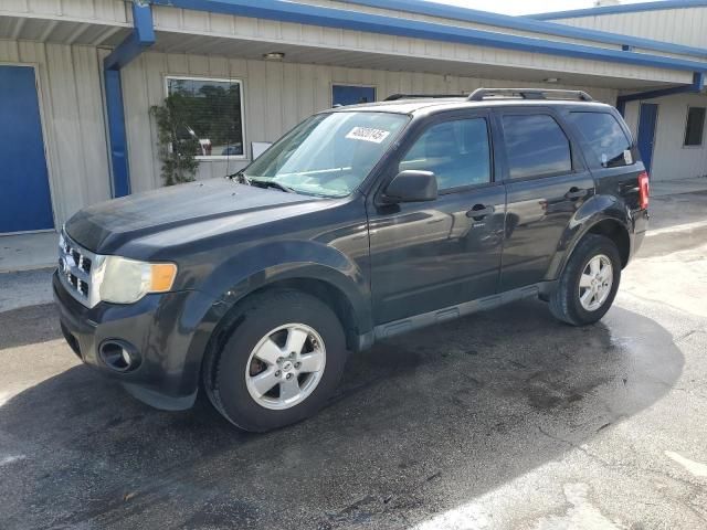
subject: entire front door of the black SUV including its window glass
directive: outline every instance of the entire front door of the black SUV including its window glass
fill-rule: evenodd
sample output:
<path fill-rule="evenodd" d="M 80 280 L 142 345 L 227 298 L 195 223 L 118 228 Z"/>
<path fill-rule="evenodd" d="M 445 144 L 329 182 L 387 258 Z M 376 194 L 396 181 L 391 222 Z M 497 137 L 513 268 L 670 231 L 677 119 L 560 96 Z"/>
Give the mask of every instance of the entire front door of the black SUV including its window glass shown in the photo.
<path fill-rule="evenodd" d="M 464 113 L 420 130 L 393 163 L 433 171 L 435 201 L 369 204 L 376 325 L 496 293 L 506 192 L 493 183 L 487 116 Z"/>

